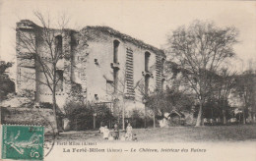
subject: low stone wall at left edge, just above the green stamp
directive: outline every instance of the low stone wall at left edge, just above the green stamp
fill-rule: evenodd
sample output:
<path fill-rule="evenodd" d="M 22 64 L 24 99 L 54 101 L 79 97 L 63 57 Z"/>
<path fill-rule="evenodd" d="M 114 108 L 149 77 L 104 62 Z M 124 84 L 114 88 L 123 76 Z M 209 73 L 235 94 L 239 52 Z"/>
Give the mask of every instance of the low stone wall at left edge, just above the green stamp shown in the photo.
<path fill-rule="evenodd" d="M 44 134 L 56 133 L 51 109 L 0 107 L 0 123 L 43 126 Z"/>

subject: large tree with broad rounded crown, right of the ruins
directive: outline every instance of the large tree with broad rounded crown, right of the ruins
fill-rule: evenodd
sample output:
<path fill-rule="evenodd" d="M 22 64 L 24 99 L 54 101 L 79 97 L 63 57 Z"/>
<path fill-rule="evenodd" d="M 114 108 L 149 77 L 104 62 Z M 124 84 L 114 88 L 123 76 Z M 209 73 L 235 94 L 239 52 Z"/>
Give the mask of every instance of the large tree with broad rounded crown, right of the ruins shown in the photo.
<path fill-rule="evenodd" d="M 211 93 L 213 73 L 224 61 L 233 57 L 237 42 L 234 27 L 216 27 L 213 23 L 193 22 L 189 27 L 178 27 L 168 37 L 168 50 L 183 70 L 183 76 L 197 95 L 200 105 L 196 127 L 202 124 L 203 106 Z"/>

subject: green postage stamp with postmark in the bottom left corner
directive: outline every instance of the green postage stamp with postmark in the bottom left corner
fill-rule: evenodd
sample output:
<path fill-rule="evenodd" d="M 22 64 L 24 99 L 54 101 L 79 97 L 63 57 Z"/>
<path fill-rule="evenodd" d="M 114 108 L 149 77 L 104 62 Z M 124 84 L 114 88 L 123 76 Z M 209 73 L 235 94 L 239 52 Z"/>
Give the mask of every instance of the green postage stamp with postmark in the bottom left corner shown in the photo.
<path fill-rule="evenodd" d="M 43 127 L 2 125 L 2 159 L 43 160 Z"/>

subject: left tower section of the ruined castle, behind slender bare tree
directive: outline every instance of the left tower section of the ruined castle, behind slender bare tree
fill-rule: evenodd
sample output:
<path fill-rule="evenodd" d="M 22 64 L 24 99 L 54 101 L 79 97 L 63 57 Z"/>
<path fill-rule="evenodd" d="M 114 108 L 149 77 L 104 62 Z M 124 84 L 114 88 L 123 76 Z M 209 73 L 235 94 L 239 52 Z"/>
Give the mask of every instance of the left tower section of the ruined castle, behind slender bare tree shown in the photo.
<path fill-rule="evenodd" d="M 50 68 L 50 49 L 41 38 L 41 27 L 37 27 L 31 21 L 22 21 L 17 24 L 17 92 L 19 95 L 29 96 L 38 102 L 52 102 L 52 92 L 47 83 L 46 77 L 38 61 L 32 57 L 33 53 L 40 56 L 44 64 Z M 63 72 L 63 82 L 56 90 L 56 101 L 58 106 L 65 105 L 66 98 L 71 93 L 71 36 L 70 32 L 54 30 L 54 36 L 62 36 L 62 51 L 66 56 L 58 61 L 57 70 Z M 27 41 L 25 45 L 24 41 Z M 31 45 L 28 45 L 32 41 Z M 55 46 L 53 46 L 54 48 Z M 49 80 L 51 82 L 51 80 Z M 62 84 L 62 85 L 61 85 Z"/>

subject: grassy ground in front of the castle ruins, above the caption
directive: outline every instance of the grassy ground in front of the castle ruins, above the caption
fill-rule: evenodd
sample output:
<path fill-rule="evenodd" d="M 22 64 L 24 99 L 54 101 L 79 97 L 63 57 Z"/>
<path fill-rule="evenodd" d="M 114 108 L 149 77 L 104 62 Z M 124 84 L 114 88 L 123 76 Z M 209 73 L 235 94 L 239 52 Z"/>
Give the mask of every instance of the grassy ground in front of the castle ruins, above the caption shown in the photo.
<path fill-rule="evenodd" d="M 256 125 L 134 129 L 133 132 L 139 142 L 256 141 Z M 94 131 L 60 134 L 58 139 L 105 141 Z"/>

